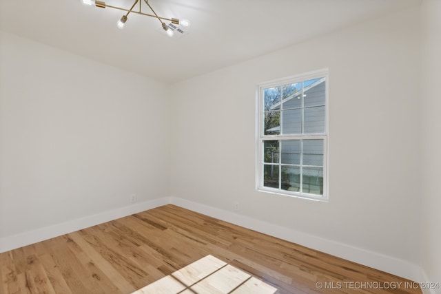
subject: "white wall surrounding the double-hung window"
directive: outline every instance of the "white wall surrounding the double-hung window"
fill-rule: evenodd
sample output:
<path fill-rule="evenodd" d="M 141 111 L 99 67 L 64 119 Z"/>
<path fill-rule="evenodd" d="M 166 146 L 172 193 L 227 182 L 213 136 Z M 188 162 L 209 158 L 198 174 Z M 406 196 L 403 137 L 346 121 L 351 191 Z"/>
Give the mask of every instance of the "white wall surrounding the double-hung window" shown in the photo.
<path fill-rule="evenodd" d="M 418 264 L 419 34 L 411 8 L 174 85 L 172 196 Z M 324 67 L 329 203 L 255 191 L 256 86 Z"/>

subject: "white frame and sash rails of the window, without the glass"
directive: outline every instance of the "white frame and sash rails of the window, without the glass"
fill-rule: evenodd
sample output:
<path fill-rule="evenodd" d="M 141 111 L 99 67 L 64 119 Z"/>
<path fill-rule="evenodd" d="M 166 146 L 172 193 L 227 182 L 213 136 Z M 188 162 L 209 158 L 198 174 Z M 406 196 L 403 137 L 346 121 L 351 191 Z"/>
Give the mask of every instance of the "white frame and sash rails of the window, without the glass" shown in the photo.
<path fill-rule="evenodd" d="M 269 87 L 278 87 L 281 85 L 287 85 L 289 83 L 298 83 L 301 81 L 308 81 L 314 78 L 325 78 L 325 133 L 320 134 L 278 134 L 278 135 L 265 135 L 264 134 L 264 95 L 263 91 Z M 329 70 L 322 69 L 316 70 L 314 72 L 307 72 L 304 74 L 298 74 L 296 76 L 289 76 L 287 78 L 280 78 L 274 81 L 268 81 L 265 83 L 260 83 L 258 85 L 256 95 L 256 189 L 258 191 L 273 193 L 283 196 L 291 196 L 295 198 L 303 198 L 308 200 L 316 200 L 327 202 L 329 200 L 329 190 L 328 190 L 328 160 L 329 160 Z M 303 109 L 303 107 L 302 107 Z M 280 129 L 282 120 L 280 119 Z M 286 191 L 280 188 L 271 188 L 263 186 L 263 175 L 264 175 L 264 150 L 263 142 L 265 140 L 307 140 L 307 139 L 322 139 L 323 140 L 323 193 L 321 196 L 298 192 L 298 191 Z M 281 148 L 280 148 L 281 152 Z M 280 154 L 279 154 L 279 158 Z M 300 166 L 303 167 L 302 162 Z M 278 163 L 278 167 L 281 168 L 281 162 Z M 280 174 L 280 172 L 279 172 Z M 280 178 L 279 178 L 280 182 Z"/>

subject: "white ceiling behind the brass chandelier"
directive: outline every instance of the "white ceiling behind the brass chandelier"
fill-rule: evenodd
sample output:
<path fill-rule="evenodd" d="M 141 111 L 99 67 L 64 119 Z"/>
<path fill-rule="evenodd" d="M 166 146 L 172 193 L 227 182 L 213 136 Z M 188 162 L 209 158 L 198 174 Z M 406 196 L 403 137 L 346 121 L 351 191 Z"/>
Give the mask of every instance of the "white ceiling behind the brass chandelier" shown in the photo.
<path fill-rule="evenodd" d="M 134 0 L 107 0 L 130 8 Z M 80 0 L 0 0 L 0 30 L 165 83 L 217 70 L 288 45 L 418 5 L 420 0 L 150 0 L 161 17 L 189 19 L 170 39 L 157 19 Z M 143 5 L 143 12 L 149 12 Z"/>

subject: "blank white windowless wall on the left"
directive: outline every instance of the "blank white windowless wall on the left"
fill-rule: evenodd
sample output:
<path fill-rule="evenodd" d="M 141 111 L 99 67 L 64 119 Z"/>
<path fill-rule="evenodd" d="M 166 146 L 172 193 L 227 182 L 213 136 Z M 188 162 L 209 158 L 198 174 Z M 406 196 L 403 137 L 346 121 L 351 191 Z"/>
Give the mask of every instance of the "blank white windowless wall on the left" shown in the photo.
<path fill-rule="evenodd" d="M 0 240 L 167 196 L 166 91 L 0 31 Z"/>

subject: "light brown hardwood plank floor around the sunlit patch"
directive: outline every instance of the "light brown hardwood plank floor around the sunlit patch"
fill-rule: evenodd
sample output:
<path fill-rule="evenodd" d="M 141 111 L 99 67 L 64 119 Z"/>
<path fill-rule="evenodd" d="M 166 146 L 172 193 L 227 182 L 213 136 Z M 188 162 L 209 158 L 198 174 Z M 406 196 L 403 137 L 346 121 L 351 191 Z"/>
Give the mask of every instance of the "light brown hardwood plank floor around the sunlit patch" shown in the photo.
<path fill-rule="evenodd" d="M 142 289 L 207 255 L 280 294 L 422 293 L 409 280 L 169 204 L 1 253 L 0 294 L 156 294 Z M 164 293 L 257 293 L 233 287 Z"/>

